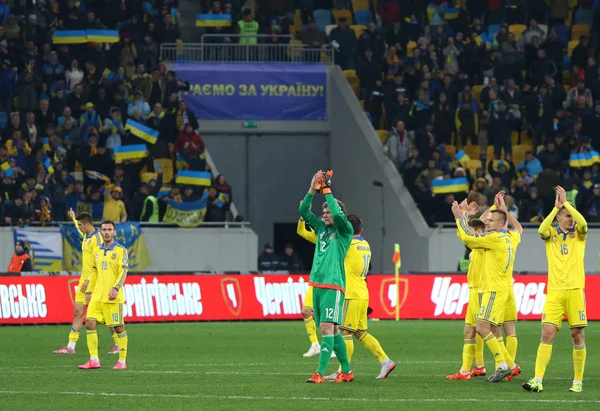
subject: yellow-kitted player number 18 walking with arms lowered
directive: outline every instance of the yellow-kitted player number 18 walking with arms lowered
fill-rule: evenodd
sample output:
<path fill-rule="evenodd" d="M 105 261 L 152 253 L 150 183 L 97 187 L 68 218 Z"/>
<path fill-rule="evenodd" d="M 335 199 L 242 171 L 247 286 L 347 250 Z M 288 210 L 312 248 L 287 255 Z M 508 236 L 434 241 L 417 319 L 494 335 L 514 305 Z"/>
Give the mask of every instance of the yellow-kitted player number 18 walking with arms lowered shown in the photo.
<path fill-rule="evenodd" d="M 116 225 L 113 221 L 104 220 L 100 225 L 102 244 L 94 253 L 90 284 L 86 296 L 91 295 L 88 316 L 85 322 L 87 345 L 90 360 L 79 368 L 89 370 L 100 368 L 98 358 L 97 324 L 104 323 L 114 327 L 119 345 L 119 361 L 114 370 L 127 369 L 128 338 L 123 325 L 123 284 L 127 278 L 127 249 L 115 241 Z"/>

